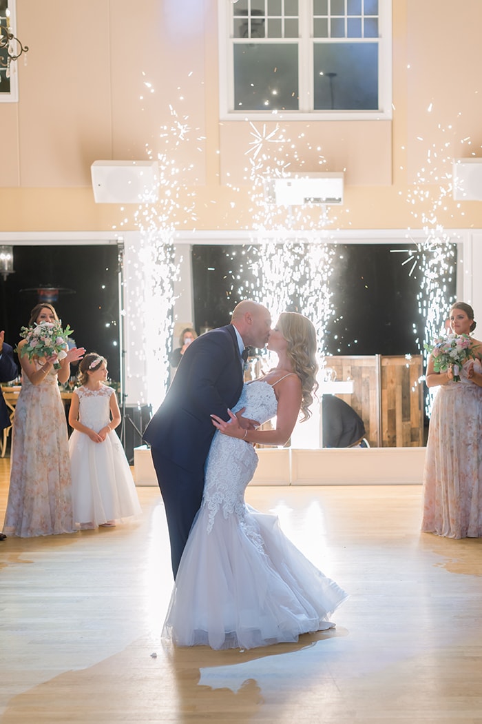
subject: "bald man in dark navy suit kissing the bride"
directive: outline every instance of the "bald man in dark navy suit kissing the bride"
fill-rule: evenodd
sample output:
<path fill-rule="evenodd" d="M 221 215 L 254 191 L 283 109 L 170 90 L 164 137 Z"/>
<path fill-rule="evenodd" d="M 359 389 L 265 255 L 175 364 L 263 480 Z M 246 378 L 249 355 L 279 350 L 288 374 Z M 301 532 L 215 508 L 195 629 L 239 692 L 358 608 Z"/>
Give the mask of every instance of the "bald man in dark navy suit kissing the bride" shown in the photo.
<path fill-rule="evenodd" d="M 264 348 L 270 337 L 267 308 L 245 300 L 231 324 L 212 329 L 186 348 L 173 382 L 143 435 L 151 446 L 171 540 L 174 578 L 205 484 L 205 462 L 215 427 L 210 415 L 228 419 L 243 387 L 245 347 Z M 254 421 L 242 418 L 241 426 Z"/>

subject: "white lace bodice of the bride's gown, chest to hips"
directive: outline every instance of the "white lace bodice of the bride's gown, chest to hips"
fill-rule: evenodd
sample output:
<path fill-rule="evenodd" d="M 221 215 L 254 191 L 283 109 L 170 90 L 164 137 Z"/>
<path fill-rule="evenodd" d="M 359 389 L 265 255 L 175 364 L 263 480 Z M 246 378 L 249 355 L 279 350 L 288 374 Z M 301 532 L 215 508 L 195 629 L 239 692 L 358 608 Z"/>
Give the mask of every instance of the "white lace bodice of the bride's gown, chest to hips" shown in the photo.
<path fill-rule="evenodd" d="M 267 422 L 276 415 L 277 400 L 275 391 L 268 382 L 251 382 L 243 387 L 241 397 L 233 412 L 245 407 L 243 416 L 257 420 L 259 424 Z M 206 463 L 205 492 L 202 505 L 209 510 L 208 532 L 212 530 L 215 515 L 223 511 L 225 518 L 236 515 L 241 527 L 254 544 L 256 531 L 250 529 L 249 517 L 246 517 L 244 490 L 257 468 L 258 456 L 254 447 L 237 437 L 228 437 L 216 432 Z"/>

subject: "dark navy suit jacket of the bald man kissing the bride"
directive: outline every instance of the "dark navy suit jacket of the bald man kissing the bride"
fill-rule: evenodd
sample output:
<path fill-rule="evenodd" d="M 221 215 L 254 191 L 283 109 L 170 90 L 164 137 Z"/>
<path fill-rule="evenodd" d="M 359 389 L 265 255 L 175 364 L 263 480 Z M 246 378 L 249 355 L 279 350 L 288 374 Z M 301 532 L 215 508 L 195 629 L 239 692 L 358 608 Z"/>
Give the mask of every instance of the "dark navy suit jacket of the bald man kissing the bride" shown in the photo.
<path fill-rule="evenodd" d="M 165 458 L 199 470 L 207 458 L 215 427 L 210 415 L 228 419 L 243 389 L 243 365 L 231 324 L 212 329 L 182 355 L 171 387 L 143 435 Z"/>

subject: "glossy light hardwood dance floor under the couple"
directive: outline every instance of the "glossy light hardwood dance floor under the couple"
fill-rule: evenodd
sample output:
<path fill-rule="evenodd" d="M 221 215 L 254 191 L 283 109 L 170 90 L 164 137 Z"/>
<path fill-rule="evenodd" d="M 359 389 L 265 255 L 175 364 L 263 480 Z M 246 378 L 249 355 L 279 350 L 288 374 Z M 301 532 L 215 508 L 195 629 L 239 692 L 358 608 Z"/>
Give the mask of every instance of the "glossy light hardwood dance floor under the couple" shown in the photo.
<path fill-rule="evenodd" d="M 138 523 L 0 543 L 1 724 L 482 723 L 482 539 L 421 534 L 420 486 L 249 489 L 350 599 L 246 652 L 160 643 L 168 536 L 138 492 Z"/>

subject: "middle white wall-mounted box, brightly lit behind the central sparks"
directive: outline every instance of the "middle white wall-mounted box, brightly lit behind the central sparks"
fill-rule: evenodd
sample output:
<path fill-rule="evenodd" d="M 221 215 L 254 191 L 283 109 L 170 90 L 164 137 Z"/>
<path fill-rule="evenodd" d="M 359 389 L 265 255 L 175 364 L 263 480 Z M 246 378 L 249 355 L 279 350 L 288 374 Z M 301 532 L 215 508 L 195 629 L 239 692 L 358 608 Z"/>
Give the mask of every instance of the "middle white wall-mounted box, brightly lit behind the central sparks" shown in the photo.
<path fill-rule="evenodd" d="M 264 195 L 277 206 L 302 206 L 304 203 L 343 203 L 343 173 L 306 173 L 267 179 Z"/>

